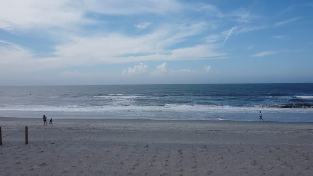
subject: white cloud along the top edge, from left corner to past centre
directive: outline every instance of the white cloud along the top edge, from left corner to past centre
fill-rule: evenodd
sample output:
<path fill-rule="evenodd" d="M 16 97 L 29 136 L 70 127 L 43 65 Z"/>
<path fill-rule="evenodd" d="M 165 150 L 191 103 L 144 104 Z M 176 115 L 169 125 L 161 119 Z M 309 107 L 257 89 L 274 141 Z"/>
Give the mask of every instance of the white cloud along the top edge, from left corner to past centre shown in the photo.
<path fill-rule="evenodd" d="M 65 28 L 94 23 L 89 12 L 106 15 L 166 14 L 184 6 L 176 0 L 3 0 L 0 5 L 0 28 Z"/>

